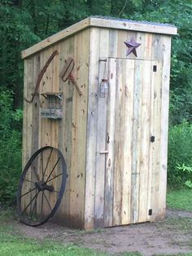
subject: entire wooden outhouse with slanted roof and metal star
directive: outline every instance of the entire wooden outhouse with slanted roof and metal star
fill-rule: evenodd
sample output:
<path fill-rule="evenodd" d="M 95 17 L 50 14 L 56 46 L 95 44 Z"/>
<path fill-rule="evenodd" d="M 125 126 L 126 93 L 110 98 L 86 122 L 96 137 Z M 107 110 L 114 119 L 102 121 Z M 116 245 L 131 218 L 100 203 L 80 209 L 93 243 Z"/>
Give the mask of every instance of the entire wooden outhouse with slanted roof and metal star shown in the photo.
<path fill-rule="evenodd" d="M 23 165 L 46 145 L 67 163 L 54 221 L 88 230 L 164 218 L 175 34 L 91 16 L 22 52 Z"/>

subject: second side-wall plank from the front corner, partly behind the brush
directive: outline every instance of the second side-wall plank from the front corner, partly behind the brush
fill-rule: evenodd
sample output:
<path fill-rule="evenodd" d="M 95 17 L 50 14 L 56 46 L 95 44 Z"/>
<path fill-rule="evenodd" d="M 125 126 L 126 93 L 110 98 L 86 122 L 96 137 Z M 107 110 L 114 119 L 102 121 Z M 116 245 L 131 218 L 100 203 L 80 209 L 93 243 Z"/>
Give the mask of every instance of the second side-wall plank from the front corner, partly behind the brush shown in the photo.
<path fill-rule="evenodd" d="M 64 42 L 60 43 L 60 63 L 59 71 L 63 70 L 65 60 L 68 58 L 74 58 L 74 38 L 68 38 Z M 71 185 L 71 155 L 72 155 L 72 100 L 73 100 L 73 86 L 68 81 L 63 82 L 59 80 L 60 90 L 63 91 L 63 119 L 61 121 L 60 130 L 60 147 L 62 148 L 63 155 L 65 157 L 68 178 L 66 180 L 66 188 L 61 202 L 61 222 L 70 226 L 72 223 L 70 217 L 70 195 L 72 189 Z"/>

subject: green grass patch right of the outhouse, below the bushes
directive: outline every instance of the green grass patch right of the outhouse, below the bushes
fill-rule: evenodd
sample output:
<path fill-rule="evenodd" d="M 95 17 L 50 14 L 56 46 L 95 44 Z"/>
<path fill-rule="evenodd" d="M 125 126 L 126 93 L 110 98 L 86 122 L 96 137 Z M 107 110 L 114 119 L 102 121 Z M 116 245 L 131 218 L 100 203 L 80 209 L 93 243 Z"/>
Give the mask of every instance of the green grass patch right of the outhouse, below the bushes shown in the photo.
<path fill-rule="evenodd" d="M 192 189 L 168 191 L 167 206 L 169 209 L 192 211 Z"/>

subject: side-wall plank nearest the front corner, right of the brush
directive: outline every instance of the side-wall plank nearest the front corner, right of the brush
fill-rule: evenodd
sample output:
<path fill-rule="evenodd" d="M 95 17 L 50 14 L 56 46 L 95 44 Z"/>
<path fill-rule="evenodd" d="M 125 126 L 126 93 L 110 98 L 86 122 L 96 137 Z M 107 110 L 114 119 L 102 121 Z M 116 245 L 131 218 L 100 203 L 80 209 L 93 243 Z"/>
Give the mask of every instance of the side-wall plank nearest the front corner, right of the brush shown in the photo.
<path fill-rule="evenodd" d="M 85 201 L 85 139 L 87 119 L 89 30 L 75 37 L 74 76 L 82 95 L 73 87 L 70 215 L 72 226 L 83 228 Z"/>

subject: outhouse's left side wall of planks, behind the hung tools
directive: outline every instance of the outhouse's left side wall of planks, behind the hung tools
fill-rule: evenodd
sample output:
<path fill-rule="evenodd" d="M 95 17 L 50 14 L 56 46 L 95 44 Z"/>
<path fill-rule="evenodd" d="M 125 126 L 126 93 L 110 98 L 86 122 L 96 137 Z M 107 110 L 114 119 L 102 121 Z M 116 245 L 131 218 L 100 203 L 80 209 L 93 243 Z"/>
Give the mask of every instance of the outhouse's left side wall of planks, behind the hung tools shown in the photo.
<path fill-rule="evenodd" d="M 87 91 L 89 69 L 89 29 L 50 46 L 24 60 L 24 98 L 31 99 L 41 68 L 53 51 L 54 60 L 41 79 L 39 95 L 33 103 L 24 100 L 23 166 L 33 152 L 46 145 L 59 148 L 67 163 L 68 179 L 63 201 L 55 220 L 70 227 L 83 227 L 85 200 L 85 139 L 87 120 Z M 72 83 L 63 82 L 59 73 L 65 60 L 75 60 L 73 75 L 81 88 L 80 96 Z M 41 93 L 63 93 L 63 119 L 41 118 L 40 107 L 46 108 Z M 50 201 L 54 199 L 50 198 Z"/>

